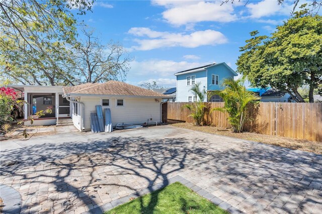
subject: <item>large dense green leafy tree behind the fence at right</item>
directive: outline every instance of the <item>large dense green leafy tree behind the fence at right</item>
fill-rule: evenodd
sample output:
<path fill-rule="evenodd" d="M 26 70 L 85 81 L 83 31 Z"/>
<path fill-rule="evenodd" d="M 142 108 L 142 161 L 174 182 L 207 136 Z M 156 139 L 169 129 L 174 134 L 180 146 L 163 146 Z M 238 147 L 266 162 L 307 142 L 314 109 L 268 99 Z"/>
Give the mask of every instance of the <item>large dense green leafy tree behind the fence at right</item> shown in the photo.
<path fill-rule="evenodd" d="M 286 91 L 297 102 L 304 102 L 299 88 L 308 85 L 313 102 L 313 90 L 322 81 L 322 17 L 308 10 L 295 12 L 271 37 L 259 36 L 258 31 L 251 36 L 240 48 L 238 72 L 254 86 Z"/>

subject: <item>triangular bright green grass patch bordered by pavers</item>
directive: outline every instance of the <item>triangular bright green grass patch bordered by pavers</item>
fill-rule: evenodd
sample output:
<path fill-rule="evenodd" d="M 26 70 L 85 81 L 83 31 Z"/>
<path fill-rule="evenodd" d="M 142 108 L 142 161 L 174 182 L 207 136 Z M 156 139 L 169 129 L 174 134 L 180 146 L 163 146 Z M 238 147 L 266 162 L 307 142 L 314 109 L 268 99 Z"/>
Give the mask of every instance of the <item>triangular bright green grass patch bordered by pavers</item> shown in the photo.
<path fill-rule="evenodd" d="M 180 182 L 135 198 L 105 214 L 118 213 L 228 213 Z"/>

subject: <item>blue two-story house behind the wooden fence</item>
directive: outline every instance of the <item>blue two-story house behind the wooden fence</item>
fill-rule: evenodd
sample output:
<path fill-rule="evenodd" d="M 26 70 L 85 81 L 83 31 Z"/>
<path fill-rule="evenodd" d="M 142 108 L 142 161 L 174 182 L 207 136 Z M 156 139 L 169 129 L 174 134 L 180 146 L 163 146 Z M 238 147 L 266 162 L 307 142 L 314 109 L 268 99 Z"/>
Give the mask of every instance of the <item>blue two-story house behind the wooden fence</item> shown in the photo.
<path fill-rule="evenodd" d="M 226 63 L 212 63 L 197 68 L 192 68 L 175 73 L 177 76 L 177 102 L 193 102 L 196 101 L 193 93 L 190 91 L 192 85 L 200 82 L 200 89 L 206 91 L 221 90 L 222 79 L 237 76 Z M 218 95 L 211 96 L 204 101 L 220 102 L 221 97 Z"/>

